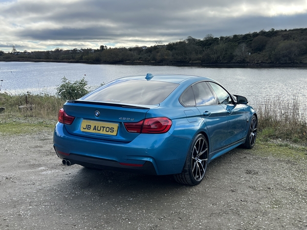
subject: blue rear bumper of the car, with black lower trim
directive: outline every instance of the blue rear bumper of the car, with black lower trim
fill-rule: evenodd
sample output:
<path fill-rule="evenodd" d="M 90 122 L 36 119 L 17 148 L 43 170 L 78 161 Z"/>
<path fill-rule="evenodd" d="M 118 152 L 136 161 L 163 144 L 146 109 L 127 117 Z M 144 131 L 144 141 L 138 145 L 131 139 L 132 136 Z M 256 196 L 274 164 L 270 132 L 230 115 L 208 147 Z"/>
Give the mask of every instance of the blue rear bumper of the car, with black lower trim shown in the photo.
<path fill-rule="evenodd" d="M 54 148 L 60 159 L 91 168 L 144 174 L 181 173 L 191 140 L 170 133 L 140 134 L 129 143 L 72 135 L 58 123 Z"/>

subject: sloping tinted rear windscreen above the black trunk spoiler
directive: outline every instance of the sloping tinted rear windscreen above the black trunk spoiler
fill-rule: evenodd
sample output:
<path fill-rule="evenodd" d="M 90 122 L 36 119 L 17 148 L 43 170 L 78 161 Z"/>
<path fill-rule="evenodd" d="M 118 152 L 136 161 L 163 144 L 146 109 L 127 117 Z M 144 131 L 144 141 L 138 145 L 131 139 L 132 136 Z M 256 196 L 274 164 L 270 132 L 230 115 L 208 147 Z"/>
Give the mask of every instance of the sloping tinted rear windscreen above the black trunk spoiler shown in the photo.
<path fill-rule="evenodd" d="M 179 84 L 161 81 L 127 80 L 84 96 L 86 101 L 156 105 L 165 100 Z"/>

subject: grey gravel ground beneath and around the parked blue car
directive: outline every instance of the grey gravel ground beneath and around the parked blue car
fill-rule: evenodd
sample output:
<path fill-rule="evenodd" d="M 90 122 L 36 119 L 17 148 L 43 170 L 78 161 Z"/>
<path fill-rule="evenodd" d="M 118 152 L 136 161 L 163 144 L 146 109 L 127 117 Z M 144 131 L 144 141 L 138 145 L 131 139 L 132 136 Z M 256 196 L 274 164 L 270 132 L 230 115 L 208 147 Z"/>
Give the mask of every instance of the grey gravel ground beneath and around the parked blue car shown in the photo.
<path fill-rule="evenodd" d="M 63 166 L 52 132 L 0 140 L 0 229 L 307 229 L 301 158 L 237 148 L 188 187 L 172 176 Z"/>

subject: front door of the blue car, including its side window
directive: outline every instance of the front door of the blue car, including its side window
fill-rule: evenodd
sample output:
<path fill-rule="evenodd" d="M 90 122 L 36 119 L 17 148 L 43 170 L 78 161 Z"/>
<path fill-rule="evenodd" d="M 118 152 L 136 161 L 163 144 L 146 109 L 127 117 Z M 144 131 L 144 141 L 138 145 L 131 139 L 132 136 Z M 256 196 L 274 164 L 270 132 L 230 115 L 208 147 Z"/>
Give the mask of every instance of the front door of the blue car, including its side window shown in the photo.
<path fill-rule="evenodd" d="M 214 93 L 220 104 L 227 112 L 228 120 L 228 137 L 226 144 L 231 145 L 244 139 L 245 131 L 247 128 L 247 111 L 243 105 L 234 103 L 229 93 L 221 86 L 214 82 L 209 82 L 214 90 Z"/>

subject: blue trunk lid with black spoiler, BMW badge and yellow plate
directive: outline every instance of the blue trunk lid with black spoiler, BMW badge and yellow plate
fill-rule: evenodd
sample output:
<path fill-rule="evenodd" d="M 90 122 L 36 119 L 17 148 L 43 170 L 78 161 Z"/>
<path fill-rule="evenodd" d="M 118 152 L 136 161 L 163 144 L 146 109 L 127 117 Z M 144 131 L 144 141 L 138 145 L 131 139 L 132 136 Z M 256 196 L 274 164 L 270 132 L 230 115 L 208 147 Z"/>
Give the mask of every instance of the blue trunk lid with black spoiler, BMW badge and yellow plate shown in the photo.
<path fill-rule="evenodd" d="M 139 133 L 128 132 L 123 123 L 145 119 L 151 107 L 158 106 L 68 101 L 63 109 L 75 120 L 71 125 L 64 126 L 70 134 L 86 139 L 127 143 L 133 141 Z"/>

